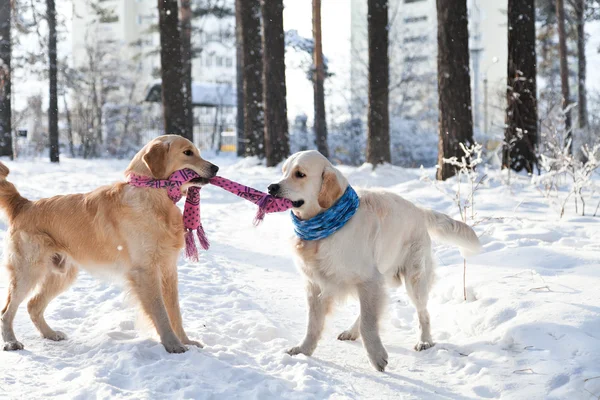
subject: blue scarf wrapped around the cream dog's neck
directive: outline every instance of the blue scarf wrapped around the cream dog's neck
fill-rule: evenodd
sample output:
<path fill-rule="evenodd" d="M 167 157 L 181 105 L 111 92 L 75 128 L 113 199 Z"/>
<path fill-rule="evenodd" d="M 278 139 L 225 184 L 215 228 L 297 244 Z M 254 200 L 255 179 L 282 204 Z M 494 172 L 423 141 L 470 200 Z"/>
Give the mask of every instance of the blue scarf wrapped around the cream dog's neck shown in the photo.
<path fill-rule="evenodd" d="M 332 207 L 311 219 L 303 221 L 292 212 L 294 232 L 302 240 L 320 240 L 333 235 L 346 225 L 358 210 L 358 195 L 348 185 L 344 195 Z"/>

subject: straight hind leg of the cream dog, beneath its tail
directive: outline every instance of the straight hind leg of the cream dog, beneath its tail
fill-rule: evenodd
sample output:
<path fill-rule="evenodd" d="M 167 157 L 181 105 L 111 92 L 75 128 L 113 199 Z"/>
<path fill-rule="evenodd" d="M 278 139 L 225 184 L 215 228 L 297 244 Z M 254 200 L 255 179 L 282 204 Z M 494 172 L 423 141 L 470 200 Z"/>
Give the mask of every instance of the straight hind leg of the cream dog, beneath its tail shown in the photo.
<path fill-rule="evenodd" d="M 429 290 L 435 277 L 431 253 L 425 251 L 418 258 L 417 262 L 420 263 L 418 267 L 407 268 L 405 284 L 406 293 L 415 305 L 419 317 L 419 341 L 415 345 L 415 350 L 421 351 L 427 350 L 434 345 L 431 338 L 431 323 L 429 312 L 427 311 L 427 301 L 429 299 Z"/>

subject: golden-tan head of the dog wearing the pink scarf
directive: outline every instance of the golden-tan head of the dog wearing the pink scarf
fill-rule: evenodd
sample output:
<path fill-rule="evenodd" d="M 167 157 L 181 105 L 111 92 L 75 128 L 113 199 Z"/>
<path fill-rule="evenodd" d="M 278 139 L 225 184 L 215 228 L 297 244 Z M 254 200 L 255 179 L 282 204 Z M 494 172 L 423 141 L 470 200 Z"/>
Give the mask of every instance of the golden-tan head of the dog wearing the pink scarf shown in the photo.
<path fill-rule="evenodd" d="M 133 158 L 127 173 L 150 175 L 156 179 L 166 179 L 173 172 L 189 168 L 201 178 L 190 184 L 202 186 L 214 177 L 219 167 L 200 157 L 200 151 L 192 142 L 178 135 L 164 135 L 149 142 Z"/>

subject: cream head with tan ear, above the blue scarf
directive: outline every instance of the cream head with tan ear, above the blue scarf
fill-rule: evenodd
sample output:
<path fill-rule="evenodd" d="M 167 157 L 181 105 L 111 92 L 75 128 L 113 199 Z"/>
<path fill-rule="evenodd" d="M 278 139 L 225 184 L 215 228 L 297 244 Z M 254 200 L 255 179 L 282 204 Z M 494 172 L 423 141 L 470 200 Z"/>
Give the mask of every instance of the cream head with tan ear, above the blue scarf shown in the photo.
<path fill-rule="evenodd" d="M 303 220 L 327 210 L 342 197 L 348 181 L 318 151 L 302 151 L 283 164 L 283 178 L 269 185 L 269 193 L 292 201 Z"/>

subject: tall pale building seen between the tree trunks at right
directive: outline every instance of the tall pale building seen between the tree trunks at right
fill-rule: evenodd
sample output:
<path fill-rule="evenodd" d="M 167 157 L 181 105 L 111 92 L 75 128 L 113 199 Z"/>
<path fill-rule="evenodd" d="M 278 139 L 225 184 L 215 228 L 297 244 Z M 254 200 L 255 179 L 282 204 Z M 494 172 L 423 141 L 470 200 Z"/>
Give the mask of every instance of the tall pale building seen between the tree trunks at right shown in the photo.
<path fill-rule="evenodd" d="M 356 116 L 367 106 L 367 2 L 351 0 L 351 96 Z M 507 62 L 506 0 L 468 0 L 471 90 L 476 132 L 501 137 Z M 389 0 L 390 117 L 437 127 L 435 0 Z M 485 28 L 485 29 L 484 29 Z"/>

